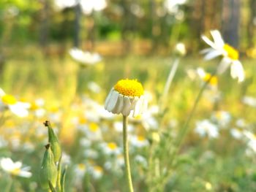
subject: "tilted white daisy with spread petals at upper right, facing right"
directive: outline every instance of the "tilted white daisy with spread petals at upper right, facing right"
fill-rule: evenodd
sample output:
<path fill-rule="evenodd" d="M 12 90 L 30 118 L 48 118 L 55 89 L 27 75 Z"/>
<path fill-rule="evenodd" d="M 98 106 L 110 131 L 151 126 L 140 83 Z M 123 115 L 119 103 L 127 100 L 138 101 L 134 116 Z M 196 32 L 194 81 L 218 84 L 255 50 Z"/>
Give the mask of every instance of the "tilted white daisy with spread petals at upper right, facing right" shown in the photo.
<path fill-rule="evenodd" d="M 211 60 L 212 58 L 222 55 L 223 58 L 218 66 L 217 73 L 222 74 L 226 71 L 227 67 L 230 66 L 231 77 L 233 77 L 233 79 L 237 78 L 238 82 L 242 82 L 244 80 L 244 68 L 239 61 L 238 50 L 225 43 L 219 31 L 211 31 L 211 36 L 214 41 L 211 41 L 204 35 L 202 36 L 203 41 L 210 45 L 210 48 L 202 50 L 201 52 L 205 54 L 204 58 Z"/>

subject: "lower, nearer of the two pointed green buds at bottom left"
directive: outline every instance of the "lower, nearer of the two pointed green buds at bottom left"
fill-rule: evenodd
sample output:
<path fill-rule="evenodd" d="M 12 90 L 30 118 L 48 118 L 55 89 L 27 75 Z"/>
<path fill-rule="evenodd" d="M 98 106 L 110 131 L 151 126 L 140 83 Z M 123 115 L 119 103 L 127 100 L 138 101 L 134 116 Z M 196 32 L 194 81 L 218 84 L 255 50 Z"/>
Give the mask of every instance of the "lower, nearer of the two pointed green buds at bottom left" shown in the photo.
<path fill-rule="evenodd" d="M 53 188 L 55 188 L 58 177 L 58 170 L 56 164 L 54 163 L 53 152 L 50 149 L 50 144 L 45 145 L 45 148 L 46 150 L 40 169 L 40 181 L 42 188 L 48 189 L 49 182 L 53 185 Z"/>

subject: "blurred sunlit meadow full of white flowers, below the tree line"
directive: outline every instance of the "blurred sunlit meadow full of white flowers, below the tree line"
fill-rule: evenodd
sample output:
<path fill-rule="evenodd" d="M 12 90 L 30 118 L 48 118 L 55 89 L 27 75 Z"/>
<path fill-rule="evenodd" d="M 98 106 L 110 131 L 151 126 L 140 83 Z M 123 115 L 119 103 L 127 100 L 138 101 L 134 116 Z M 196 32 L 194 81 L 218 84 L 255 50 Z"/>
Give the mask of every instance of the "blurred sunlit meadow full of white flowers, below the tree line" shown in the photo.
<path fill-rule="evenodd" d="M 214 72 L 218 59 L 204 61 L 200 53 L 181 58 L 162 99 L 175 55 L 103 56 L 83 66 L 68 53 L 45 57 L 32 45 L 4 51 L 0 88 L 30 107 L 24 118 L 0 108 L 0 157 L 22 161 L 31 172 L 26 178 L 18 176 L 20 170 L 1 170 L 4 191 L 42 191 L 45 120 L 59 137 L 66 191 L 128 191 L 121 115 L 104 110 L 110 89 L 126 78 L 140 81 L 148 96 L 148 110 L 128 119 L 135 191 L 256 191 L 254 60 L 241 58 L 244 82 L 233 80 L 227 69 L 214 85 L 208 83 L 177 145 L 207 82 L 197 68 Z"/>

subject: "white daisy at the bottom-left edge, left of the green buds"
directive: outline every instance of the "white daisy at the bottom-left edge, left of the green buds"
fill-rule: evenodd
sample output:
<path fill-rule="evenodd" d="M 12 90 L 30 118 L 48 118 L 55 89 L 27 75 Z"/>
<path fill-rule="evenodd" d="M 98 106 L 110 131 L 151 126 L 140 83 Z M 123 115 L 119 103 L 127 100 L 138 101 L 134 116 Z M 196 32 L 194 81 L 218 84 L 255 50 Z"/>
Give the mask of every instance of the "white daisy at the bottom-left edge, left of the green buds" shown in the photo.
<path fill-rule="evenodd" d="M 1 158 L 0 165 L 4 172 L 15 176 L 29 178 L 32 175 L 31 172 L 29 172 L 29 166 L 21 168 L 22 163 L 20 161 L 13 162 L 11 158 Z"/>

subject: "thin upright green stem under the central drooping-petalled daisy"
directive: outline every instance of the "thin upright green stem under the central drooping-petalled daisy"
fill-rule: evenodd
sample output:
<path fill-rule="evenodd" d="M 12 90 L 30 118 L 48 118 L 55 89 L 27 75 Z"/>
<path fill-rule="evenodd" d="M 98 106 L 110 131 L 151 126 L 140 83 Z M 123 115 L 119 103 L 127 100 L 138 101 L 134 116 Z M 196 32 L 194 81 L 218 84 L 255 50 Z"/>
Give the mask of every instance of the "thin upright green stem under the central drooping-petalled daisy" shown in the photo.
<path fill-rule="evenodd" d="M 127 177 L 127 184 L 129 187 L 129 192 L 133 192 L 132 188 L 132 176 L 131 170 L 129 167 L 129 147 L 128 147 L 128 139 L 127 139 L 127 116 L 123 115 L 123 145 L 124 145 L 124 163 L 125 163 L 125 174 Z"/>

